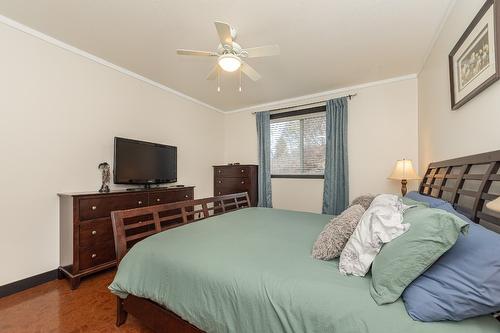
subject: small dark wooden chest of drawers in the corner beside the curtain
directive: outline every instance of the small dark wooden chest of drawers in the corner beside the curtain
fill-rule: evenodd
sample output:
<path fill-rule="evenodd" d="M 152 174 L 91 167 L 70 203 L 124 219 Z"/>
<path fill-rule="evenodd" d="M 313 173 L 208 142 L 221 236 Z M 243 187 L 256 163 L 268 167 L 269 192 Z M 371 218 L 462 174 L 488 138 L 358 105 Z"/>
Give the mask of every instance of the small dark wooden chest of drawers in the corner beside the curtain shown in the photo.
<path fill-rule="evenodd" d="M 251 206 L 256 207 L 257 165 L 214 165 L 214 196 L 248 192 Z"/>

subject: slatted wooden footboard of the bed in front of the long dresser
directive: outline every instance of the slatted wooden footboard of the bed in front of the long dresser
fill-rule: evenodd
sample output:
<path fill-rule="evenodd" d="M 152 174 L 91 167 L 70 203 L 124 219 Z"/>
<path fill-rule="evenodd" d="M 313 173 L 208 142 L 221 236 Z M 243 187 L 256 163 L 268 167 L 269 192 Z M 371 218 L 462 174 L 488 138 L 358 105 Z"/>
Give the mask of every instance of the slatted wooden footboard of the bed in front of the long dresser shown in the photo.
<path fill-rule="evenodd" d="M 116 260 L 120 263 L 146 237 L 245 207 L 250 207 L 250 199 L 243 192 L 111 212 Z"/>

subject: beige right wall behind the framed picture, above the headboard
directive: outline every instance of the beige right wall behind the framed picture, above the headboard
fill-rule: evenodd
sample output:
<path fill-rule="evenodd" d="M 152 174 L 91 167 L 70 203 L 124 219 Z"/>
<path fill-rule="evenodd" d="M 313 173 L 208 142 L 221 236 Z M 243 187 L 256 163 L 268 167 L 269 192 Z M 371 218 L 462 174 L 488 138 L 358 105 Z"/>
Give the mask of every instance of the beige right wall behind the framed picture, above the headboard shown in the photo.
<path fill-rule="evenodd" d="M 450 106 L 448 54 L 483 3 L 457 1 L 418 76 L 422 170 L 431 161 L 500 149 L 500 82 L 457 111 Z"/>

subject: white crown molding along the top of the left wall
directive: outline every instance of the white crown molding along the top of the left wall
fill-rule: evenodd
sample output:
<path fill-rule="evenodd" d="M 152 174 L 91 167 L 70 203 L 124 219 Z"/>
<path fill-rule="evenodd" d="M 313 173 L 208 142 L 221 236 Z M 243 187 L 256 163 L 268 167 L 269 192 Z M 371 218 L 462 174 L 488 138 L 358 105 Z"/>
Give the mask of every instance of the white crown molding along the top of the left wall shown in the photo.
<path fill-rule="evenodd" d="M 140 74 L 137 74 L 137 73 L 135 73 L 135 72 L 133 72 L 131 70 L 128 70 L 128 69 L 123 68 L 121 66 L 115 65 L 112 62 L 109 62 L 109 61 L 104 60 L 104 59 L 102 59 L 102 58 L 100 58 L 98 56 L 95 56 L 95 55 L 93 55 L 93 54 L 91 54 L 89 52 L 83 51 L 83 50 L 81 50 L 81 49 L 79 49 L 77 47 L 69 45 L 69 44 L 67 44 L 67 43 L 65 43 L 63 41 L 60 41 L 59 39 L 56 39 L 56 38 L 51 37 L 49 35 L 46 35 L 43 32 L 40 32 L 40 31 L 35 30 L 33 28 L 30 28 L 30 27 L 28 27 L 28 26 L 26 26 L 26 25 L 24 25 L 24 24 L 22 24 L 20 22 L 17 22 L 17 21 L 15 21 L 13 19 L 10 19 L 10 18 L 8 18 L 6 16 L 0 15 L 0 22 L 3 23 L 3 24 L 5 24 L 5 25 L 7 25 L 7 26 L 9 26 L 9 27 L 11 27 L 11 28 L 13 28 L 13 29 L 16 29 L 18 31 L 24 32 L 24 33 L 26 33 L 26 34 L 28 34 L 30 36 L 39 38 L 39 39 L 41 39 L 41 40 L 43 40 L 43 41 L 45 41 L 45 42 L 47 42 L 49 44 L 57 46 L 57 47 L 59 47 L 61 49 L 64 49 L 64 50 L 69 51 L 69 52 L 71 52 L 73 54 L 79 55 L 81 57 L 84 57 L 84 58 L 86 58 L 88 60 L 91 60 L 93 62 L 96 62 L 96 63 L 98 63 L 100 65 L 103 65 L 103 66 L 106 66 L 108 68 L 114 69 L 117 72 L 120 72 L 120 73 L 122 73 L 124 75 L 130 76 L 130 77 L 132 77 L 134 79 L 137 79 L 137 80 L 140 80 L 142 82 L 145 82 L 145 83 L 147 83 L 149 85 L 152 85 L 152 86 L 154 86 L 156 88 L 159 88 L 159 89 L 161 89 L 163 91 L 172 93 L 172 94 L 174 94 L 174 95 L 176 95 L 178 97 L 181 97 L 183 99 L 186 99 L 186 100 L 188 100 L 190 102 L 193 102 L 195 104 L 204 106 L 204 107 L 206 107 L 208 109 L 211 109 L 211 110 L 214 110 L 214 111 L 217 111 L 217 112 L 220 112 L 220 113 L 224 113 L 222 110 L 220 110 L 220 109 L 218 109 L 216 107 L 213 107 L 212 105 L 209 105 L 209 104 L 207 104 L 205 102 L 202 102 L 202 101 L 200 101 L 200 100 L 198 100 L 196 98 L 193 98 L 193 97 L 188 96 L 186 94 L 183 94 L 183 93 L 181 93 L 181 92 L 179 92 L 177 90 L 169 88 L 169 87 L 167 87 L 167 86 L 165 86 L 165 85 L 163 85 L 163 84 L 161 84 L 159 82 L 156 82 L 156 81 L 153 81 L 151 79 L 148 79 L 147 77 L 144 77 L 144 76 L 142 76 Z"/>

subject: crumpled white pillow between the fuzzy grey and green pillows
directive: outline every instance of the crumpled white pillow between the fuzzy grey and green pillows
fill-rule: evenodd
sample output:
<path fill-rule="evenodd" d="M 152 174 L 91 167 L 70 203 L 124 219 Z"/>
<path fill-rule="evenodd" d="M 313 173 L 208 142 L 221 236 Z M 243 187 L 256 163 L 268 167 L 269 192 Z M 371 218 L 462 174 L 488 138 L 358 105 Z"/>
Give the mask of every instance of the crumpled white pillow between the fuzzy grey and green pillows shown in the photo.
<path fill-rule="evenodd" d="M 382 245 L 402 235 L 410 227 L 402 224 L 403 212 L 409 207 L 396 195 L 378 195 L 361 217 L 340 254 L 340 272 L 365 276 Z"/>

